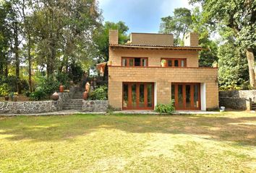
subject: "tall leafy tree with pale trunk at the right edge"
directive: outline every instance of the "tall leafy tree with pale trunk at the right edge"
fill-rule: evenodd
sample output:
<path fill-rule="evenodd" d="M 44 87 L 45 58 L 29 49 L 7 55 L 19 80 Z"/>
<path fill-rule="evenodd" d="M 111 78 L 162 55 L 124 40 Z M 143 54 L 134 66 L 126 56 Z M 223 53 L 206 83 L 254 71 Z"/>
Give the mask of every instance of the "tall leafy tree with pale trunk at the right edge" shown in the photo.
<path fill-rule="evenodd" d="M 215 27 L 226 26 L 234 31 L 236 45 L 243 49 L 249 67 L 249 83 L 255 82 L 256 1 L 255 0 L 190 0 L 202 4 L 202 16 Z"/>

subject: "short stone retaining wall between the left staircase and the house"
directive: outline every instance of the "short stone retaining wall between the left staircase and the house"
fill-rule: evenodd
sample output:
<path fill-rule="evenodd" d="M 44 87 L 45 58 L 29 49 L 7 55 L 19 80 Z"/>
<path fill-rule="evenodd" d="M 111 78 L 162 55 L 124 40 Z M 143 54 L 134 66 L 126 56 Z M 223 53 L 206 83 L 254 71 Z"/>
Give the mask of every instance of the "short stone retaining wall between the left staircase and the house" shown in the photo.
<path fill-rule="evenodd" d="M 108 100 L 83 100 L 82 112 L 106 112 Z"/>

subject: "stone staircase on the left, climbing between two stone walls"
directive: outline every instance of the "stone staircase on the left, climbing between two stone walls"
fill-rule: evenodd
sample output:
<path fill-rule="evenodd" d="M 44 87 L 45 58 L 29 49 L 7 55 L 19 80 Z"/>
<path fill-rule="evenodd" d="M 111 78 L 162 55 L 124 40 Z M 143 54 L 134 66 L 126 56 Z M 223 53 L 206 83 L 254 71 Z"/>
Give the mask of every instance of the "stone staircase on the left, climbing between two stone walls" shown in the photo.
<path fill-rule="evenodd" d="M 64 102 L 64 110 L 82 110 L 82 88 L 77 88 L 72 96 L 72 99 L 67 99 Z"/>

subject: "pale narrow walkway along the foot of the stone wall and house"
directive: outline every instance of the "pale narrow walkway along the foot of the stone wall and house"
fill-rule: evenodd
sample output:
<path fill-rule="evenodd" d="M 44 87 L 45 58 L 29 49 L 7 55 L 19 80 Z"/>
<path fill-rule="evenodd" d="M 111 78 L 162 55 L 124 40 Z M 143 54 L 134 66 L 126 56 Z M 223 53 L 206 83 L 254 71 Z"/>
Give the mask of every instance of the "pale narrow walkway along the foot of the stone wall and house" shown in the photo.
<path fill-rule="evenodd" d="M 46 113 L 35 113 L 35 114 L 0 114 L 0 116 L 43 116 L 43 115 L 74 115 L 74 114 L 95 114 L 95 115 L 105 115 L 106 112 L 80 112 L 78 110 L 61 110 L 58 112 L 46 112 Z M 160 115 L 158 112 L 154 112 L 153 110 L 122 110 L 122 111 L 114 111 L 111 112 L 114 114 L 137 114 L 137 115 Z M 176 111 L 174 115 L 205 115 L 205 114 L 220 114 L 220 112 L 210 112 L 210 111 Z"/>

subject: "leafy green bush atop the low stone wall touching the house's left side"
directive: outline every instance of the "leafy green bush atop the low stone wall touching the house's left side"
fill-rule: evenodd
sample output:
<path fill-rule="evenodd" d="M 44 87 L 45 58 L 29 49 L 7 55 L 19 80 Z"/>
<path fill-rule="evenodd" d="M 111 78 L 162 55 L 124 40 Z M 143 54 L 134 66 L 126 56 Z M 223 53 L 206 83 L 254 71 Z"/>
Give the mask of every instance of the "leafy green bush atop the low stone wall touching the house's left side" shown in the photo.
<path fill-rule="evenodd" d="M 106 100 L 108 99 L 108 87 L 106 85 L 99 86 L 89 93 L 89 99 L 93 100 Z"/>

